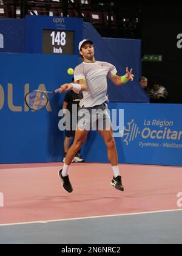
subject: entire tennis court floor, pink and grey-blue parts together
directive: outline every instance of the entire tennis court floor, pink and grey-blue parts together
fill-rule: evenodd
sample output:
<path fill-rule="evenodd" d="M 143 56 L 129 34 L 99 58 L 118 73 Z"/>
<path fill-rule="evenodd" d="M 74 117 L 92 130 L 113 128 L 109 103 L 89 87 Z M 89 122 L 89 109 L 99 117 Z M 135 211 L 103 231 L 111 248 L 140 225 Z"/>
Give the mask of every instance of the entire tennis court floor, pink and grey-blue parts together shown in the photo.
<path fill-rule="evenodd" d="M 182 168 L 121 165 L 123 193 L 109 164 L 75 163 L 69 194 L 61 165 L 0 165 L 0 243 L 182 243 Z"/>

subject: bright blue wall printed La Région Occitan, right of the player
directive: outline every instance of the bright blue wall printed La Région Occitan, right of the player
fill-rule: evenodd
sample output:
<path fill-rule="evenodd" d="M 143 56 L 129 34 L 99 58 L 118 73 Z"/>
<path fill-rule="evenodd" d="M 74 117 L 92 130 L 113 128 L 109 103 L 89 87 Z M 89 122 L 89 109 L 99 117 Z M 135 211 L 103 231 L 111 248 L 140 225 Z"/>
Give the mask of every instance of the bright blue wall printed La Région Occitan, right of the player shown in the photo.
<path fill-rule="evenodd" d="M 124 110 L 124 132 L 116 131 L 124 136 L 115 138 L 120 163 L 182 166 L 181 104 L 110 103 L 109 108 Z M 96 132 L 90 133 L 83 154 L 88 162 L 108 162 Z"/>

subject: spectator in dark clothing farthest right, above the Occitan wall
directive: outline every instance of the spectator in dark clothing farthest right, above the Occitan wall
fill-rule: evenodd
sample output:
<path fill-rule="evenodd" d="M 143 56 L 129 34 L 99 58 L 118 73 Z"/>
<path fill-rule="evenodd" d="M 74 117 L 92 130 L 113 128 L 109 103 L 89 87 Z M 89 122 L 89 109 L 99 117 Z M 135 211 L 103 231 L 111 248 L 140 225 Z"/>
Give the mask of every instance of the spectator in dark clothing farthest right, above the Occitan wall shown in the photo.
<path fill-rule="evenodd" d="M 160 84 L 153 84 L 152 90 L 150 90 L 150 102 L 151 103 L 166 103 L 169 101 L 169 93 Z"/>

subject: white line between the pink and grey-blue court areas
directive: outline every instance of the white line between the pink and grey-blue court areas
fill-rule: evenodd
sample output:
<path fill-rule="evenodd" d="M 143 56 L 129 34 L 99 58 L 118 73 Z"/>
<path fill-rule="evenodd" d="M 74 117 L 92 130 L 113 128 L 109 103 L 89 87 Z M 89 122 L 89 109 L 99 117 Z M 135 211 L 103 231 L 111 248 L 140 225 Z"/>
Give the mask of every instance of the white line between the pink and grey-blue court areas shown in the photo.
<path fill-rule="evenodd" d="M 13 226 L 13 225 L 25 225 L 25 224 L 37 224 L 37 223 L 48 224 L 50 222 L 75 221 L 75 220 L 79 220 L 79 219 L 96 219 L 96 218 L 108 218 L 108 217 L 117 217 L 117 216 L 144 215 L 144 214 L 149 214 L 149 213 L 168 213 L 168 212 L 182 212 L 182 209 L 161 210 L 161 211 L 155 211 L 155 212 L 141 212 L 141 213 L 124 213 L 124 214 L 116 214 L 116 215 L 99 215 L 99 216 L 70 218 L 70 219 L 53 219 L 50 221 L 15 222 L 15 223 L 8 223 L 8 224 L 0 224 L 0 227 L 1 226 Z"/>

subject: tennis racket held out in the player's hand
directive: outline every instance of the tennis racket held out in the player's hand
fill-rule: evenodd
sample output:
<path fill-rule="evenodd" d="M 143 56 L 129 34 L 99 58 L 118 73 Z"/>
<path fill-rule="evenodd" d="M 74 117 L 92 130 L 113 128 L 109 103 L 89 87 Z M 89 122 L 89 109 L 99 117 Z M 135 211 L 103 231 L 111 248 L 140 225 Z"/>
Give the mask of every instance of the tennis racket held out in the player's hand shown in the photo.
<path fill-rule="evenodd" d="M 30 91 L 25 95 L 25 104 L 32 110 L 41 110 L 55 93 L 59 93 L 59 90 L 60 88 L 54 91 Z"/>

